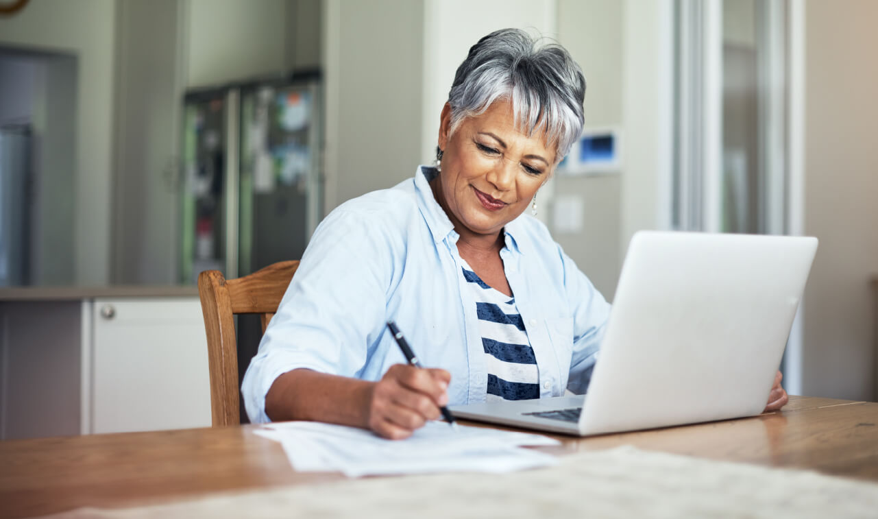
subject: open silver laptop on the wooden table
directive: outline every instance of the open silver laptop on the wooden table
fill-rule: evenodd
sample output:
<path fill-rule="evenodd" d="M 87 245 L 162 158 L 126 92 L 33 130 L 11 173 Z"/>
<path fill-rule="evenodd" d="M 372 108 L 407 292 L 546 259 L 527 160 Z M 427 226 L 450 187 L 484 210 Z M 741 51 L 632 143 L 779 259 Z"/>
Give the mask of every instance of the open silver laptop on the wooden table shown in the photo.
<path fill-rule="evenodd" d="M 812 237 L 638 232 L 586 395 L 450 411 L 575 436 L 759 414 L 816 252 Z"/>

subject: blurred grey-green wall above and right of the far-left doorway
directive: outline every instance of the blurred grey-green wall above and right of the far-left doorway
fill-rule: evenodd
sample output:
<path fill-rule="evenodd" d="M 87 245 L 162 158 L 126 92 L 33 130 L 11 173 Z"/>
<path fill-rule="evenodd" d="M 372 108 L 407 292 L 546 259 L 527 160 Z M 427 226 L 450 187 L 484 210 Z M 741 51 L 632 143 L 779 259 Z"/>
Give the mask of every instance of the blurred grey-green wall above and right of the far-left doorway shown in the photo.
<path fill-rule="evenodd" d="M 112 0 L 34 0 L 11 18 L 0 18 L 0 45 L 75 54 L 76 162 L 66 165 L 75 181 L 73 257 L 81 284 L 104 284 L 109 278 L 111 214 L 111 147 L 113 97 Z"/>

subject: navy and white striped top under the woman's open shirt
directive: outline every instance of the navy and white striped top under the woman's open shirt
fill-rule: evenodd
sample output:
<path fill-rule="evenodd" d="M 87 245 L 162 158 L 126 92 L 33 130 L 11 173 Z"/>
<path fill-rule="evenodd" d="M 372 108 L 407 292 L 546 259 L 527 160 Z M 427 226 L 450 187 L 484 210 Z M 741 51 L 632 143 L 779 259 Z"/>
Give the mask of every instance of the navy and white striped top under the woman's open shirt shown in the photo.
<path fill-rule="evenodd" d="M 539 371 L 524 320 L 509 297 L 493 289 L 464 262 L 464 279 L 472 290 L 485 349 L 487 401 L 540 398 Z"/>

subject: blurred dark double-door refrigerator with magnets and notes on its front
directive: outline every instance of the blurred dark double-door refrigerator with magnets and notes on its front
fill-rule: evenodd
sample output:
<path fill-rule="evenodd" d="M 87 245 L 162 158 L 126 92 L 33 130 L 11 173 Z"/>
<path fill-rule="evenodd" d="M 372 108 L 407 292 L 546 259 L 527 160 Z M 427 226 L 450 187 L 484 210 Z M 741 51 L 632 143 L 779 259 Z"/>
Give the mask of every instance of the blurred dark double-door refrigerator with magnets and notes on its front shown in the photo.
<path fill-rule="evenodd" d="M 299 259 L 322 207 L 320 76 L 184 97 L 181 281 Z"/>

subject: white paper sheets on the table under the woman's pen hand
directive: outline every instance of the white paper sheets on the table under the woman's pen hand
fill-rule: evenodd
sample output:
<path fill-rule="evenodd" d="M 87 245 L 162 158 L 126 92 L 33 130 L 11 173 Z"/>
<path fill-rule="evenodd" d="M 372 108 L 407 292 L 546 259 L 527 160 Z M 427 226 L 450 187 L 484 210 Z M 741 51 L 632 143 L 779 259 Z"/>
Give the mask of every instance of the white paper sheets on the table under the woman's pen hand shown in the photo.
<path fill-rule="evenodd" d="M 426 472 L 511 472 L 555 465 L 555 457 L 523 449 L 557 445 L 546 436 L 428 422 L 405 440 L 320 422 L 272 423 L 256 434 L 281 443 L 301 472 L 342 472 L 350 478 Z"/>

